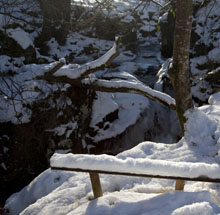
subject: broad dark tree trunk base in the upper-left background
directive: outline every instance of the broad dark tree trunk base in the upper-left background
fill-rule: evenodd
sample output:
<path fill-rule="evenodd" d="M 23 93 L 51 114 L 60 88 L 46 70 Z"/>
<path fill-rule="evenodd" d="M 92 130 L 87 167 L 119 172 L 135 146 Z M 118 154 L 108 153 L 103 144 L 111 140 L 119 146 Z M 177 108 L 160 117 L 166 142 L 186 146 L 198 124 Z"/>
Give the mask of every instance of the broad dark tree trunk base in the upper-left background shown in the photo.
<path fill-rule="evenodd" d="M 42 41 L 55 37 L 63 45 L 70 26 L 71 1 L 70 0 L 40 0 L 43 14 Z"/>

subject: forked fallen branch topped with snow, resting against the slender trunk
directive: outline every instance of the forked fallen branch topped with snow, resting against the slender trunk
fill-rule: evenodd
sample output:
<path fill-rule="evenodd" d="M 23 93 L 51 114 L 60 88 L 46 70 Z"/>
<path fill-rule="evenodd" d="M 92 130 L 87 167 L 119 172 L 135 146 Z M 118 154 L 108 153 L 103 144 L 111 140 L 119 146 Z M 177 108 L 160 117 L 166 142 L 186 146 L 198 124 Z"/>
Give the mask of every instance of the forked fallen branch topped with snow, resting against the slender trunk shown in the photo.
<path fill-rule="evenodd" d="M 170 109 L 175 109 L 175 100 L 169 95 L 153 90 L 139 81 L 127 80 L 103 80 L 97 78 L 88 78 L 88 75 L 104 69 L 112 60 L 119 55 L 119 38 L 116 38 L 114 46 L 103 56 L 95 61 L 86 63 L 77 68 L 71 68 L 71 65 L 64 66 L 64 61 L 60 61 L 44 76 L 49 82 L 69 83 L 72 86 L 89 88 L 96 91 L 112 93 L 135 93 L 150 98 L 159 104 Z M 72 65 L 73 66 L 73 65 Z"/>

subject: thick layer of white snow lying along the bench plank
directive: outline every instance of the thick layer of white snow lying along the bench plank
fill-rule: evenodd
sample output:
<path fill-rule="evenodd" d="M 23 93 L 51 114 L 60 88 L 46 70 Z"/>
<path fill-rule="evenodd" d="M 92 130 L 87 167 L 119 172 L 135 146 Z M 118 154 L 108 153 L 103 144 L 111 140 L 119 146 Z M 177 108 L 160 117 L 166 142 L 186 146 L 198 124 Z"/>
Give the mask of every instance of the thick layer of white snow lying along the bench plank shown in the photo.
<path fill-rule="evenodd" d="M 99 170 L 146 175 L 161 175 L 196 178 L 200 176 L 218 178 L 218 164 L 174 162 L 147 158 L 118 159 L 110 155 L 80 155 L 55 153 L 50 159 L 52 167 L 65 167 L 83 170 Z"/>

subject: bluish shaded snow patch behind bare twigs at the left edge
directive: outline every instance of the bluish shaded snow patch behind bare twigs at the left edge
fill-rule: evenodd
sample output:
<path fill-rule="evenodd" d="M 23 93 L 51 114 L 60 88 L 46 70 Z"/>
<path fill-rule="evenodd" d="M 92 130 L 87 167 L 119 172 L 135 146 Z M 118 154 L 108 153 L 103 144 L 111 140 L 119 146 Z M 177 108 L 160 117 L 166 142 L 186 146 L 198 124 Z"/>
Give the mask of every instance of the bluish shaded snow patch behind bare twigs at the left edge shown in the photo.
<path fill-rule="evenodd" d="M 51 91 L 57 89 L 55 85 L 46 85 L 43 81 L 36 79 L 37 76 L 41 76 L 51 69 L 54 63 L 23 65 L 22 58 L 0 56 L 0 65 L 2 65 L 4 73 L 10 70 L 17 71 L 13 76 L 5 76 L 0 79 L 2 92 L 0 95 L 0 122 L 27 123 L 32 114 L 27 104 L 31 105 L 36 100 L 43 99 Z"/>

